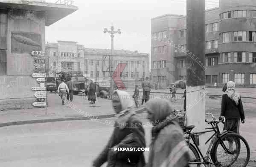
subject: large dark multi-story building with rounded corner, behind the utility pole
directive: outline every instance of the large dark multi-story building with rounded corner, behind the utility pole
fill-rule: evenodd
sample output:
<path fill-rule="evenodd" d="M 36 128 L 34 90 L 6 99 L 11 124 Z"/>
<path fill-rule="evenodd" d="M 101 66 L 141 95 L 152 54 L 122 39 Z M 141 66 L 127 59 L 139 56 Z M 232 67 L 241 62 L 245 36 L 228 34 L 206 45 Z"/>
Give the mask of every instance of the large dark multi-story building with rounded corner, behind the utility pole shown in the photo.
<path fill-rule="evenodd" d="M 216 82 L 221 86 L 233 80 L 237 86 L 255 86 L 256 3 L 220 0 L 220 7 L 205 11 L 205 26 L 206 85 Z M 164 82 L 162 88 L 186 79 L 186 16 L 166 14 L 153 18 L 151 34 L 156 36 L 151 40 L 153 79 Z"/>

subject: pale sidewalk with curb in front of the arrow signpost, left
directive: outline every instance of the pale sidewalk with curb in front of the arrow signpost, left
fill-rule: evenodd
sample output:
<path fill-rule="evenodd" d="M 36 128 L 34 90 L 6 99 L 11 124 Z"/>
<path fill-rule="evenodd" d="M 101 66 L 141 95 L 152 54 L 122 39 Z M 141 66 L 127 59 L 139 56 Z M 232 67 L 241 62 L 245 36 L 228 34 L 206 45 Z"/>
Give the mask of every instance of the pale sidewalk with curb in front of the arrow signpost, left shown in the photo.
<path fill-rule="evenodd" d="M 142 111 L 142 107 L 137 110 L 138 113 Z M 89 101 L 79 95 L 74 96 L 72 103 L 67 102 L 61 106 L 60 97 L 55 93 L 48 93 L 47 108 L 0 111 L 0 127 L 66 120 L 103 119 L 113 116 L 114 111 L 109 99 L 97 99 L 95 105 L 89 105 Z"/>

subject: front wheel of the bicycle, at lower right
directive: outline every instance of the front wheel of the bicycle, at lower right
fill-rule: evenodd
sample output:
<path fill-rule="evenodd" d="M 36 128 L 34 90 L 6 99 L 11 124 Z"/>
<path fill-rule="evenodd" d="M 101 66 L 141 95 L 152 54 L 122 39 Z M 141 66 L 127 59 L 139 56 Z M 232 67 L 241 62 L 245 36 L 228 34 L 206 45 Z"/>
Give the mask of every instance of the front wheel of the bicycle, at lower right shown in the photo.
<path fill-rule="evenodd" d="M 237 133 L 227 133 L 212 146 L 211 158 L 222 167 L 246 167 L 250 159 L 250 147 Z"/>

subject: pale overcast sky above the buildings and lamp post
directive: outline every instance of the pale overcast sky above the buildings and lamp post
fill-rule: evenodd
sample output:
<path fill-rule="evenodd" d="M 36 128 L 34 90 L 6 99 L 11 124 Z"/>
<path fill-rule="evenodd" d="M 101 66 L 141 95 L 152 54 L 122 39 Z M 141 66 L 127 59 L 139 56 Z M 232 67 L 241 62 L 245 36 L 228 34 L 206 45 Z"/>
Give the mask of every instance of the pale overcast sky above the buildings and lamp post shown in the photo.
<path fill-rule="evenodd" d="M 55 0 L 47 0 L 54 3 Z M 74 0 L 79 9 L 46 27 L 46 42 L 76 41 L 86 48 L 111 48 L 104 28 L 113 24 L 122 35 L 114 38 L 115 49 L 150 54 L 151 18 L 163 14 L 186 15 L 186 0 Z M 218 0 L 206 0 L 206 8 L 218 7 Z"/>

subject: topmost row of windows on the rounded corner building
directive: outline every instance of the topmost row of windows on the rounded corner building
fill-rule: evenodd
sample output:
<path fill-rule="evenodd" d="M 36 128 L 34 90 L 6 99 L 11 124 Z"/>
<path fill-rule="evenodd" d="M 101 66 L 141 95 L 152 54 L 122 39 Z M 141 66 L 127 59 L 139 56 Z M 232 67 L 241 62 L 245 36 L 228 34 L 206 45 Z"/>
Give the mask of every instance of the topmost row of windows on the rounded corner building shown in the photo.
<path fill-rule="evenodd" d="M 227 11 L 220 14 L 220 19 L 237 18 L 237 17 L 256 17 L 255 10 L 239 10 L 239 11 Z"/>

